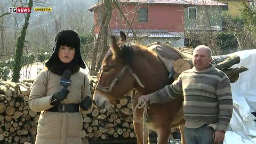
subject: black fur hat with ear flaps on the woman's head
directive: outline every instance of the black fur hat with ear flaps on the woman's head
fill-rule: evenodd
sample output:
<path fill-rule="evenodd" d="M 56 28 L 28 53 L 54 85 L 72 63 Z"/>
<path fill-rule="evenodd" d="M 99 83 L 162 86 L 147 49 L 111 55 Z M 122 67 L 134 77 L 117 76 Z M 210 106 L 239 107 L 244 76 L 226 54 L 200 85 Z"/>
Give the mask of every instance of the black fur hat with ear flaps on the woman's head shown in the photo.
<path fill-rule="evenodd" d="M 80 43 L 80 37 L 74 30 L 61 30 L 57 35 L 55 35 L 55 45 L 53 46 L 53 53 L 49 60 L 45 63 L 45 66 L 47 68 L 50 68 L 54 63 L 57 63 L 60 61 L 58 57 L 59 49 L 61 45 L 66 45 L 69 47 L 75 48 L 75 57 L 74 59 L 77 59 L 77 64 L 79 67 L 85 69 L 85 64 L 81 56 L 81 43 Z"/>

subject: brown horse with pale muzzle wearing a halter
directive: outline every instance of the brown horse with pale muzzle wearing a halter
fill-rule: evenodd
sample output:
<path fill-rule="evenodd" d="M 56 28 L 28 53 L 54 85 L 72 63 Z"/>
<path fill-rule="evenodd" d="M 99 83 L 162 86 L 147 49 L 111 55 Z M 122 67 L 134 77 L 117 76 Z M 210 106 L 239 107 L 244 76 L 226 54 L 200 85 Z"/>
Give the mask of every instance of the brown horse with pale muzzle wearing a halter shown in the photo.
<path fill-rule="evenodd" d="M 167 80 L 169 73 L 155 52 L 142 45 L 127 44 L 126 35 L 122 31 L 120 35 L 121 37 L 111 36 L 111 46 L 102 61 L 102 71 L 93 94 L 94 105 L 99 109 L 109 109 L 111 103 L 135 89 L 138 95 L 132 101 L 134 110 L 140 95 L 153 93 L 170 84 Z M 143 131 L 142 122 L 133 122 L 138 144 L 148 139 L 148 130 L 157 132 L 158 144 L 166 144 L 171 134 L 171 127 L 185 123 L 182 116 L 179 121 L 174 122 L 174 117 L 182 107 L 182 101 L 183 98 L 177 98 L 169 102 L 149 105 L 147 115 L 151 121 L 146 123 L 146 129 Z M 133 111 L 133 116 L 141 119 L 143 109 Z M 182 143 L 185 143 L 183 131 L 180 131 Z M 143 132 L 146 133 L 146 137 L 143 137 Z"/>

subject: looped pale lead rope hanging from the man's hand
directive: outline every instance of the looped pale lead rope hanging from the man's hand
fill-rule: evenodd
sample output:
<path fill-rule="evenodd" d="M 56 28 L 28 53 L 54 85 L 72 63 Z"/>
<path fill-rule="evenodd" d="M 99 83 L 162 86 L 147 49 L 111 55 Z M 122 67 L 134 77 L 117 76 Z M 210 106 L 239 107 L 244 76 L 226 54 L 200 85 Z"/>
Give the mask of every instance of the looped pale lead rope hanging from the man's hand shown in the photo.
<path fill-rule="evenodd" d="M 138 108 L 143 108 L 143 117 L 138 121 L 137 120 L 137 117 L 135 116 L 135 111 L 138 109 Z M 146 137 L 147 137 L 147 132 L 146 132 L 146 116 L 147 116 L 147 112 L 148 112 L 148 103 L 142 99 L 139 101 L 139 103 L 136 105 L 136 107 L 134 108 L 134 111 L 133 111 L 133 120 L 134 120 L 134 123 L 139 123 L 143 120 L 143 123 L 142 123 L 142 129 L 143 129 L 143 144 L 147 144 L 146 143 Z"/>

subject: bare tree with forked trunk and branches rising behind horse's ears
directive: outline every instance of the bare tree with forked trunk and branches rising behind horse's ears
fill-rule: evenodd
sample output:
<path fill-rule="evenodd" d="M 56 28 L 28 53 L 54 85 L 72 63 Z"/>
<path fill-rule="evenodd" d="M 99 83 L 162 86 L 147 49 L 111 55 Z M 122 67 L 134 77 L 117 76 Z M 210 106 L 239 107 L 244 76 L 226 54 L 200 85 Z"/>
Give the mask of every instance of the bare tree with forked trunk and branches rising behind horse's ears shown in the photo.
<path fill-rule="evenodd" d="M 106 54 L 108 50 L 108 34 L 111 34 L 111 31 L 109 30 L 109 21 L 112 18 L 116 21 L 116 25 L 119 26 L 119 29 L 123 29 L 124 31 L 128 29 L 128 31 L 125 31 L 129 33 L 129 31 L 132 31 L 133 34 L 133 41 L 136 41 L 137 39 L 140 39 L 140 37 L 137 37 L 137 31 L 139 30 L 136 25 L 138 25 L 137 21 L 137 12 L 140 9 L 142 5 L 145 3 L 139 3 L 137 2 L 133 9 L 129 10 L 127 9 L 126 5 L 130 4 L 127 3 L 119 3 L 117 0 L 115 1 L 101 1 L 99 3 L 102 3 L 101 7 L 97 9 L 98 14 L 98 20 L 96 23 L 98 26 L 100 26 L 100 30 L 98 33 L 98 37 L 95 37 L 95 42 L 93 46 L 93 55 L 91 59 L 91 69 L 90 74 L 95 75 L 100 69 L 101 62 L 104 58 L 104 55 Z M 111 6 L 113 4 L 113 6 Z M 111 11 L 115 9 L 118 11 L 118 15 L 115 15 L 114 17 L 111 15 Z M 95 13 L 95 12 L 94 12 Z M 129 17 L 130 16 L 130 17 Z M 124 24 L 125 23 L 125 24 Z M 126 26 L 127 24 L 127 26 Z M 134 29 L 135 26 L 135 29 Z M 97 26 L 95 26 L 97 27 Z M 103 48 L 101 48 L 103 47 Z"/>

